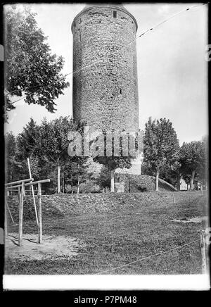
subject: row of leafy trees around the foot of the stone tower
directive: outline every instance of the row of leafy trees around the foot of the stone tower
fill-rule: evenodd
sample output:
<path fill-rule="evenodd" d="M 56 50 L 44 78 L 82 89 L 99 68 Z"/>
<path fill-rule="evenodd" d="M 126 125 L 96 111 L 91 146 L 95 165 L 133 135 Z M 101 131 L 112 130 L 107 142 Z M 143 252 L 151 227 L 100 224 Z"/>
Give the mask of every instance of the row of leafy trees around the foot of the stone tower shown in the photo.
<path fill-rule="evenodd" d="M 40 125 L 31 118 L 23 128 L 23 132 L 14 136 L 13 132 L 6 133 L 6 180 L 15 181 L 29 177 L 27 158 L 30 158 L 32 177 L 34 180 L 49 177 L 51 192 L 60 191 L 60 182 L 65 192 L 70 184 L 71 189 L 77 187 L 77 192 L 96 191 L 95 184 L 101 189 L 114 187 L 114 170 L 116 168 L 129 168 L 132 157 L 94 156 L 95 162 L 103 164 L 101 173 L 94 178 L 89 173 L 87 156 L 69 156 L 68 132 L 81 132 L 84 124 L 74 123 L 69 117 L 60 117 L 47 121 L 45 118 Z M 74 135 L 74 134 L 72 134 Z M 172 123 L 165 118 L 155 123 L 148 120 L 144 136 L 144 161 L 141 173 L 156 175 L 160 179 L 174 185 L 181 177 L 187 183 L 207 182 L 207 138 L 202 141 L 184 143 L 179 148 L 177 134 Z M 105 144 L 104 144 L 105 145 Z M 121 146 L 120 146 L 121 151 Z M 60 178 L 61 177 L 61 178 Z M 79 190 L 79 189 L 82 190 Z"/>

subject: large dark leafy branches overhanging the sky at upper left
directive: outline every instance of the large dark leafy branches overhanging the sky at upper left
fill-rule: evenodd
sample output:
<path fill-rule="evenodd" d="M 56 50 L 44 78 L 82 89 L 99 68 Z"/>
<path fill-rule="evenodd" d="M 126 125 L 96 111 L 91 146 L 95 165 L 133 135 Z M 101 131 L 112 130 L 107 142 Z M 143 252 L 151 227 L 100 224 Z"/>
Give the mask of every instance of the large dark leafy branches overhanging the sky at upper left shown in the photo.
<path fill-rule="evenodd" d="M 53 113 L 55 99 L 69 86 L 61 73 L 64 60 L 51 54 L 44 33 L 37 26 L 36 13 L 18 8 L 15 5 L 5 8 L 6 112 L 15 108 L 14 103 L 19 100 L 11 98 L 24 94 L 27 104 L 45 106 Z"/>

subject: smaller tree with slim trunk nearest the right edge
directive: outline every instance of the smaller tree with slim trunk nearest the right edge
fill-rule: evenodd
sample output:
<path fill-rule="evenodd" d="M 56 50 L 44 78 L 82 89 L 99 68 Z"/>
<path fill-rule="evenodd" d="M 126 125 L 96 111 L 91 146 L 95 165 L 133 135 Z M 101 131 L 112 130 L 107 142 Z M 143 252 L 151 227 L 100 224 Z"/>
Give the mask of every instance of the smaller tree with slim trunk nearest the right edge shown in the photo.
<path fill-rule="evenodd" d="M 205 174 L 205 166 L 207 165 L 205 142 L 184 142 L 181 146 L 181 157 L 186 165 L 187 173 L 191 175 L 190 189 L 193 190 L 195 175 L 198 173 L 202 177 Z"/>

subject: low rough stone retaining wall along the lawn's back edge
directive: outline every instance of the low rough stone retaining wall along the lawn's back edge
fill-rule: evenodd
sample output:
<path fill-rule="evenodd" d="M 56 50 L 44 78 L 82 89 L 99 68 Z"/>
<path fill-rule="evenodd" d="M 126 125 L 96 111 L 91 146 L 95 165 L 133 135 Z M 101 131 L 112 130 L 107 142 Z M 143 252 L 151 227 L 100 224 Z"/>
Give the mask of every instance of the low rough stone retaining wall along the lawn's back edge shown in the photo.
<path fill-rule="evenodd" d="M 177 193 L 179 193 L 177 197 L 182 194 L 182 192 Z M 44 195 L 42 196 L 42 213 L 44 218 L 52 216 L 60 218 L 66 214 L 120 212 L 126 207 L 134 208 L 136 206 L 145 206 L 146 204 L 150 206 L 151 203 L 158 202 L 160 197 L 162 197 L 163 201 L 167 201 L 167 204 L 172 203 L 172 193 L 170 192 Z M 14 220 L 18 221 L 18 197 L 8 196 L 7 202 Z M 25 220 L 35 220 L 32 196 L 25 196 L 23 218 Z"/>

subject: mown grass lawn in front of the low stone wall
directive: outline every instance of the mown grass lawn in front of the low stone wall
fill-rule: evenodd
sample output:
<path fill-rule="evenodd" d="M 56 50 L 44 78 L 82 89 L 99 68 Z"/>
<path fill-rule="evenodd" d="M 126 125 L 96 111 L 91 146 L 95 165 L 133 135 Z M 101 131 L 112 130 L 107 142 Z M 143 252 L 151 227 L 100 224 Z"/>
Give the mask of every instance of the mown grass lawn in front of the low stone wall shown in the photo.
<path fill-rule="evenodd" d="M 137 194 L 136 194 L 137 195 Z M 175 223 L 172 219 L 193 218 L 206 214 L 207 196 L 200 192 L 172 192 L 148 194 L 140 206 L 134 201 L 107 213 L 91 213 L 63 218 L 45 218 L 43 233 L 76 237 L 84 242 L 77 256 L 65 260 L 19 261 L 8 259 L 6 274 L 96 274 L 137 259 L 162 253 L 199 238 L 202 223 Z M 125 194 L 127 197 L 127 194 Z M 11 232 L 18 227 L 11 225 Z M 23 232 L 37 233 L 34 221 L 25 221 Z M 199 243 L 152 256 L 106 272 L 106 274 L 200 274 Z"/>

